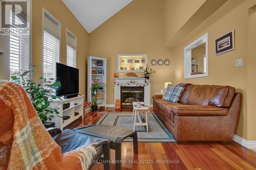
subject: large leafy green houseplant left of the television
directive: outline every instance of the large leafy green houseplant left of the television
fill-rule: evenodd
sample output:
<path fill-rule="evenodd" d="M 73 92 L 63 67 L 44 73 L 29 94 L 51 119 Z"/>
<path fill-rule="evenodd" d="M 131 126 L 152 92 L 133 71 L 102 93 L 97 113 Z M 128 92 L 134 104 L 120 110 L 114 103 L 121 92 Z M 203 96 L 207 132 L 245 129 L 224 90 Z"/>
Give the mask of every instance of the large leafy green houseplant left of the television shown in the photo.
<path fill-rule="evenodd" d="M 36 66 L 30 66 L 30 70 L 20 70 L 11 76 L 12 81 L 21 85 L 29 95 L 42 124 L 52 120 L 55 114 L 59 114 L 57 108 L 50 107 L 50 101 L 58 98 L 55 90 L 61 86 L 60 82 L 47 80 L 39 77 L 36 81 L 32 79 L 35 75 Z"/>

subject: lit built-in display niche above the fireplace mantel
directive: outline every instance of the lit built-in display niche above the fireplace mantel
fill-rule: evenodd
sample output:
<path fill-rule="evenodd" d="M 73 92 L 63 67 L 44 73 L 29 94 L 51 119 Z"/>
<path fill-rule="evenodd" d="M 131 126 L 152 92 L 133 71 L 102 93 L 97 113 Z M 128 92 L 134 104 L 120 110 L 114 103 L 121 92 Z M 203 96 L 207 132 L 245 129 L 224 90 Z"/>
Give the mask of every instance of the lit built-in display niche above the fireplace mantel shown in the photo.
<path fill-rule="evenodd" d="M 117 72 L 144 72 L 147 54 L 118 54 Z"/>

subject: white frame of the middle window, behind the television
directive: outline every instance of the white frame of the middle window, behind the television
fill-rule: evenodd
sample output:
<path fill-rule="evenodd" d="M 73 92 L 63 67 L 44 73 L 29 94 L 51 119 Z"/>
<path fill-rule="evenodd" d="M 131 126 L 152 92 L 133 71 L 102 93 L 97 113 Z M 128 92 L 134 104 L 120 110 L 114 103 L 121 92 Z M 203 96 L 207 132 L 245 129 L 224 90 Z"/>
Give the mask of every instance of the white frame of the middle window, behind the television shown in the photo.
<path fill-rule="evenodd" d="M 59 36 L 55 35 L 51 30 L 45 28 L 45 16 L 50 17 L 58 25 Z M 59 22 L 50 12 L 42 8 L 42 40 L 41 40 L 41 75 L 44 76 L 44 32 L 48 32 L 55 38 L 59 39 L 59 63 L 61 63 L 61 22 Z M 56 71 L 56 70 L 55 70 Z M 55 72 L 56 75 L 56 72 Z M 56 78 L 56 77 L 55 77 Z M 54 78 L 54 79 L 55 79 Z"/>

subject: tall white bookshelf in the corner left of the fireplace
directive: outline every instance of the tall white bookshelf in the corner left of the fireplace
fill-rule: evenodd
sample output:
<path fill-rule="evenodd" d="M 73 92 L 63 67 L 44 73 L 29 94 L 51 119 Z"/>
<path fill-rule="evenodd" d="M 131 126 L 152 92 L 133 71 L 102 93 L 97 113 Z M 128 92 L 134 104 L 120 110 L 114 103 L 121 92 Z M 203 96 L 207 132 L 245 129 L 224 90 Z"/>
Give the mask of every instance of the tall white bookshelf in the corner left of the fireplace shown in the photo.
<path fill-rule="evenodd" d="M 98 66 L 96 62 L 100 60 L 102 62 L 101 66 Z M 102 70 L 102 74 L 92 74 L 92 71 Z M 88 102 L 92 102 L 92 81 L 95 79 L 99 79 L 100 86 L 103 89 L 99 90 L 98 93 L 103 94 L 103 97 L 98 97 L 98 107 L 106 107 L 106 58 L 101 57 L 88 57 L 88 85 L 87 85 L 87 100 Z"/>

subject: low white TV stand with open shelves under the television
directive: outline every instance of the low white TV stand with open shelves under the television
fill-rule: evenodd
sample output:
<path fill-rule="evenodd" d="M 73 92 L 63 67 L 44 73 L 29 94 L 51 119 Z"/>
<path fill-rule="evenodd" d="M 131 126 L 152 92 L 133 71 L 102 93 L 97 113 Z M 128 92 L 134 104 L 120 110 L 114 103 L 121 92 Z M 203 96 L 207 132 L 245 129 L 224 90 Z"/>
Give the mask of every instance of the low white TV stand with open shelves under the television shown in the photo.
<path fill-rule="evenodd" d="M 50 107 L 56 108 L 59 112 L 59 114 L 54 114 L 54 118 L 50 121 L 55 123 L 55 128 L 59 128 L 62 131 L 64 127 L 74 122 L 74 120 L 81 116 L 83 118 L 83 97 L 84 95 L 79 95 L 71 99 L 56 99 L 50 102 Z M 66 103 L 70 103 L 70 107 L 63 110 L 63 104 Z M 79 114 L 75 116 L 75 112 Z M 70 116 L 70 118 L 63 120 L 63 116 Z"/>

